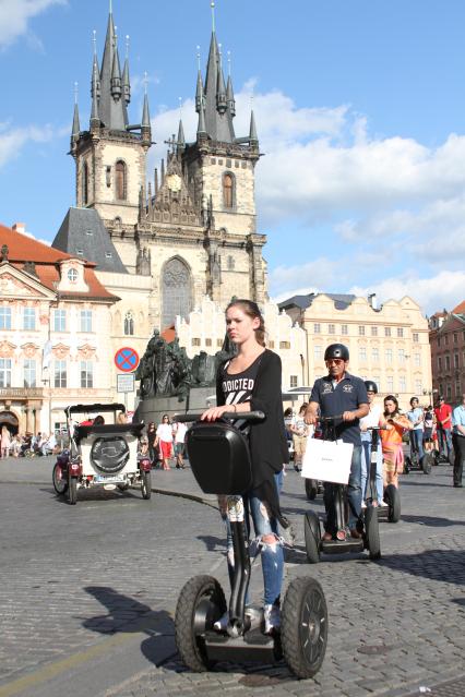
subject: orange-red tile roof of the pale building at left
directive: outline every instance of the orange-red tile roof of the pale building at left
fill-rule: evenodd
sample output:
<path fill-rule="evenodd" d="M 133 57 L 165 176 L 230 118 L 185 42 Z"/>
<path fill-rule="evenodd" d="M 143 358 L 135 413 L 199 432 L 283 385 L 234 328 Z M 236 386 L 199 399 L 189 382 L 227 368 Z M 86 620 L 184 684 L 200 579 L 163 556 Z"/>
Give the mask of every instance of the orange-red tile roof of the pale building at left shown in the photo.
<path fill-rule="evenodd" d="M 60 280 L 59 262 L 72 259 L 70 254 L 60 252 L 48 244 L 38 242 L 34 238 L 27 235 L 22 235 L 16 230 L 7 228 L 0 224 L 0 248 L 5 244 L 8 247 L 8 261 L 23 271 L 24 262 L 35 262 L 35 271 L 39 281 L 49 288 L 56 290 L 57 284 Z M 96 298 L 96 299 L 112 299 L 118 298 L 105 288 L 96 277 L 94 273 L 95 264 L 85 262 L 84 265 L 84 279 L 88 286 L 87 292 L 67 292 L 65 297 L 75 298 Z"/>

